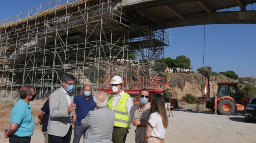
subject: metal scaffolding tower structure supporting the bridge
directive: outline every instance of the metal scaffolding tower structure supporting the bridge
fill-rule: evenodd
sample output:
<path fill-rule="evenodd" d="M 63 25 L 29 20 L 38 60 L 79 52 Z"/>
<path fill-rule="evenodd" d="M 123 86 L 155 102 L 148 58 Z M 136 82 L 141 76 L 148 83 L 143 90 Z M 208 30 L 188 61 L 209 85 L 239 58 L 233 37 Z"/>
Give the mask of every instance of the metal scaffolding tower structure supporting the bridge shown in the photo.
<path fill-rule="evenodd" d="M 152 21 L 125 15 L 120 0 L 50 0 L 0 21 L 0 97 L 16 98 L 29 84 L 47 98 L 64 73 L 77 80 L 74 94 L 114 75 L 157 76 L 169 38 Z"/>

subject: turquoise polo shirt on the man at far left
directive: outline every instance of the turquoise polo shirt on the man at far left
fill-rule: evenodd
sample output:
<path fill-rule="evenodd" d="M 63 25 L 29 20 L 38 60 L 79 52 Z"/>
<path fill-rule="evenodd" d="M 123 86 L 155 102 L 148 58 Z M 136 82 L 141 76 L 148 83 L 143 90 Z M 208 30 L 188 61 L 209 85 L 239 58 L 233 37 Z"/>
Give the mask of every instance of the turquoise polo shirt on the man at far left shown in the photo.
<path fill-rule="evenodd" d="M 13 135 L 19 137 L 32 136 L 34 131 L 34 120 L 31 112 L 31 105 L 27 104 L 22 99 L 19 99 L 12 108 L 10 125 L 12 123 L 19 124 Z"/>

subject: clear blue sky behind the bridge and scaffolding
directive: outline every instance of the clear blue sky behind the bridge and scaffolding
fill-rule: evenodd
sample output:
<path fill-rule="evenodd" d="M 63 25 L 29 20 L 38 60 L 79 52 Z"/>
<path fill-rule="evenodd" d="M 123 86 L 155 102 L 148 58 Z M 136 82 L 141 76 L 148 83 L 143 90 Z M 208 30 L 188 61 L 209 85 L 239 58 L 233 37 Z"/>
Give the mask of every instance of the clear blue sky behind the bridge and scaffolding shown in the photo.
<path fill-rule="evenodd" d="M 0 20 L 48 1 L 0 0 Z M 203 36 L 203 25 L 172 28 L 165 57 L 185 55 L 193 70 L 202 67 Z M 233 70 L 239 76 L 256 77 L 256 24 L 206 25 L 204 66 L 212 67 L 214 72 Z"/>

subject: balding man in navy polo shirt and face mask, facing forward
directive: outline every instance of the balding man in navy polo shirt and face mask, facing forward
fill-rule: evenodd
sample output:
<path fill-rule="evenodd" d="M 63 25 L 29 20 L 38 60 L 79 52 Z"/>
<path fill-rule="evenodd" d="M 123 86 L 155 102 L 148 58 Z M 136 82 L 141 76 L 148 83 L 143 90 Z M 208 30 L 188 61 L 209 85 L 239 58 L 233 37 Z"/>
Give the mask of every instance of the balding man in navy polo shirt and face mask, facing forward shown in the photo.
<path fill-rule="evenodd" d="M 83 137 L 85 137 L 86 132 L 86 130 L 83 130 L 83 128 L 81 127 L 81 120 L 87 116 L 89 111 L 97 109 L 91 95 L 90 85 L 83 86 L 83 93 L 81 95 L 77 95 L 74 98 L 74 104 L 76 104 L 77 118 L 75 121 L 73 143 L 79 143 L 81 136 L 83 135 Z"/>

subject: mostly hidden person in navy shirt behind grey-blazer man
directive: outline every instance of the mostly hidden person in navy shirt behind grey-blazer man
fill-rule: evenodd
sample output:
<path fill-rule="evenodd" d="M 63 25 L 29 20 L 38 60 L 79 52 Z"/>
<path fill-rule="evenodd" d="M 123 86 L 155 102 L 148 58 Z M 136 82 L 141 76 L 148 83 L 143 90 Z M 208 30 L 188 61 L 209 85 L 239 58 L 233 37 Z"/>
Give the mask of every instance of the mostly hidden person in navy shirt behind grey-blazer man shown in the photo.
<path fill-rule="evenodd" d="M 42 132 L 45 136 L 45 143 L 48 143 L 48 133 L 47 133 L 47 125 L 50 115 L 50 107 L 49 107 L 49 99 L 43 104 L 41 110 L 37 113 L 38 119 L 40 120 L 39 123 L 42 126 Z"/>

